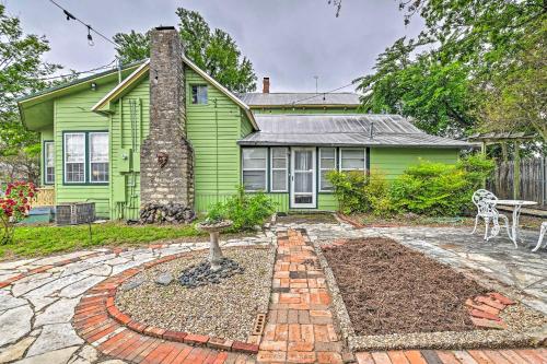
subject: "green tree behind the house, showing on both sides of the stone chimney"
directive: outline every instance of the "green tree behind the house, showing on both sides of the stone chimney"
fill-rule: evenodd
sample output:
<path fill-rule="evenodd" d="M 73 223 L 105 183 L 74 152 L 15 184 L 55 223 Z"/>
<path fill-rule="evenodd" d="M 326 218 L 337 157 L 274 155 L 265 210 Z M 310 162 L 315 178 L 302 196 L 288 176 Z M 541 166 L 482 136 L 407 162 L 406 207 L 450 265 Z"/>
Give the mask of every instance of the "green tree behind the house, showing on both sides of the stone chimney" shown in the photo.
<path fill-rule="evenodd" d="M 183 8 L 176 10 L 181 23 L 181 40 L 186 56 L 196 66 L 232 92 L 251 92 L 256 89 L 256 75 L 248 58 L 242 56 L 235 40 L 222 30 L 212 30 L 197 12 Z M 123 62 L 150 57 L 150 33 L 135 31 L 114 36 L 116 50 Z"/>

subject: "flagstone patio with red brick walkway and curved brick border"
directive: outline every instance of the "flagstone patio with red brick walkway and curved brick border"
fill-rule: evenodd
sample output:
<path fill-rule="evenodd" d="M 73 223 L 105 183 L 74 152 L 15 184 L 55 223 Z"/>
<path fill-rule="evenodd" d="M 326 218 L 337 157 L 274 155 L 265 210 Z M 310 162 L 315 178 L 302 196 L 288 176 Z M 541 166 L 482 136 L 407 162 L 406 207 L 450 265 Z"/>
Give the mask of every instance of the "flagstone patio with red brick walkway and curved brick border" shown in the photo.
<path fill-rule="evenodd" d="M 295 228 L 304 228 L 307 236 Z M 350 359 L 359 363 L 387 364 L 546 363 L 545 349 L 344 351 L 335 330 L 324 272 L 307 238 L 321 243 L 340 237 L 391 237 L 455 268 L 498 280 L 500 286 L 503 284 L 517 292 L 516 298 L 546 313 L 547 253 L 534 254 L 524 246 L 515 250 L 507 238 L 484 243 L 479 235 L 468 233 L 466 228 L 353 230 L 345 223 L 300 223 L 278 225 L 274 231 L 241 242 L 224 242 L 224 246 L 278 244 L 277 277 L 274 277 L 270 310 L 256 357 L 173 342 L 158 332 L 147 336 L 114 322 L 105 312 L 106 304 L 97 306 L 106 302 L 115 287 L 115 283 L 109 283 L 116 281 L 113 281 L 115 275 L 127 275 L 165 257 L 205 249 L 207 244 L 95 249 L 3 262 L 0 263 L 0 363 L 253 363 L 257 360 L 265 363 L 340 363 Z M 525 232 L 524 236 L 533 243 L 533 232 Z M 79 315 L 77 319 L 74 309 Z M 79 325 L 74 320 L 80 324 L 93 321 L 94 325 L 79 336 L 74 330 Z M 90 336 L 93 330 L 95 332 Z"/>

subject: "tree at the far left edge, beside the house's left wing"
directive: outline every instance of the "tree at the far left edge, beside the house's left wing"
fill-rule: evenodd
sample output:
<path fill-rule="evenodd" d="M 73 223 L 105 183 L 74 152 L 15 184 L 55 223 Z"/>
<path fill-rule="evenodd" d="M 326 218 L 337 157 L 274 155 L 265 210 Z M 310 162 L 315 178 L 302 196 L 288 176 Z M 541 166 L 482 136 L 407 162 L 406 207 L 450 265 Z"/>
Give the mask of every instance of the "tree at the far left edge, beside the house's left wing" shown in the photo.
<path fill-rule="evenodd" d="M 37 176 L 39 134 L 24 128 L 16 98 L 47 87 L 44 79 L 60 69 L 43 60 L 48 50 L 45 37 L 24 34 L 19 17 L 0 4 L 0 163 L 30 179 Z"/>

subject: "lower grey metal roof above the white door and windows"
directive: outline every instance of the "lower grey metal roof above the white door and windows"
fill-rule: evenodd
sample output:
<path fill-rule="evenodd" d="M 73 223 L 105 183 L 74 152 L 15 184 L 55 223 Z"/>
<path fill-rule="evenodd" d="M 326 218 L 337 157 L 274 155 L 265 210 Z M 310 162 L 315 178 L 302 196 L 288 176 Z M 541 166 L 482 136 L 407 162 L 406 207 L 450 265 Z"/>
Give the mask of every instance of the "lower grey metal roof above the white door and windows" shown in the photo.
<path fill-rule="evenodd" d="M 240 145 L 473 146 L 465 141 L 430 136 L 399 115 L 288 114 L 255 118 L 260 131 L 240 140 Z"/>

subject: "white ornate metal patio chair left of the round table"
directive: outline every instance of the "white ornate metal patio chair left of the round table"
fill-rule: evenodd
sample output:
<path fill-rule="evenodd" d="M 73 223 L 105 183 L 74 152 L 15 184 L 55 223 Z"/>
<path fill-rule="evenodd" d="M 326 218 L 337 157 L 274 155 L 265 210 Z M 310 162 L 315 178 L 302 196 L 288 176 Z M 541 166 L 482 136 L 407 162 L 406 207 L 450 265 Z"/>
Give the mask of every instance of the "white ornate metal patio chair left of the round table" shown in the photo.
<path fill-rule="evenodd" d="M 496 209 L 496 204 L 498 201 L 498 198 L 496 195 L 490 192 L 487 189 L 478 189 L 473 193 L 472 197 L 473 203 L 477 207 L 477 215 L 475 216 L 475 227 L 473 228 L 472 234 L 475 234 L 477 231 L 477 225 L 479 222 L 479 219 L 485 220 L 485 240 L 489 240 L 491 237 L 494 237 L 499 234 L 500 232 L 500 219 L 504 221 L 505 223 L 505 230 L 508 231 L 509 234 L 509 219 L 504 214 L 501 214 L 498 212 L 498 209 Z M 490 227 L 490 222 L 492 222 L 493 227 L 490 231 L 490 234 L 488 234 L 488 230 Z"/>

